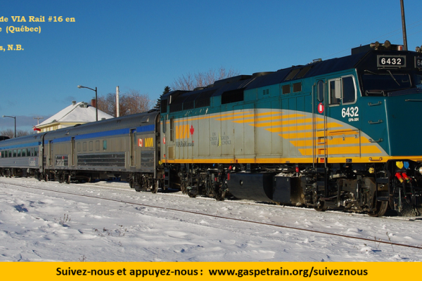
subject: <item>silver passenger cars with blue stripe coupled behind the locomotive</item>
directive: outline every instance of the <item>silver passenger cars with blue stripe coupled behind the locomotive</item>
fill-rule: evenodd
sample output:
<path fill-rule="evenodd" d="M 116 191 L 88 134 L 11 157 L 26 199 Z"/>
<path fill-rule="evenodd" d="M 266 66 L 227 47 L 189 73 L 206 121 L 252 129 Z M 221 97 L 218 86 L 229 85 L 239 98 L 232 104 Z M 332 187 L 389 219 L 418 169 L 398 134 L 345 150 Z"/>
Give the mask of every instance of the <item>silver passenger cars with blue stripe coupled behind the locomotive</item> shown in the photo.
<path fill-rule="evenodd" d="M 159 183 L 154 179 L 162 178 L 160 169 L 156 168 L 157 153 L 160 152 L 158 126 L 155 124 L 158 115 L 159 112 L 153 110 L 1 141 L 0 172 L 9 176 L 25 176 L 30 169 L 31 174 L 39 179 L 67 183 L 121 177 L 137 191 L 156 192 Z M 26 148 L 28 145 L 35 145 L 33 149 L 41 151 L 39 157 L 34 155 L 36 171 L 32 171 L 34 167 L 23 165 L 27 157 L 19 154 L 19 148 L 29 149 Z M 3 153 L 6 152 L 8 157 L 4 158 Z"/>

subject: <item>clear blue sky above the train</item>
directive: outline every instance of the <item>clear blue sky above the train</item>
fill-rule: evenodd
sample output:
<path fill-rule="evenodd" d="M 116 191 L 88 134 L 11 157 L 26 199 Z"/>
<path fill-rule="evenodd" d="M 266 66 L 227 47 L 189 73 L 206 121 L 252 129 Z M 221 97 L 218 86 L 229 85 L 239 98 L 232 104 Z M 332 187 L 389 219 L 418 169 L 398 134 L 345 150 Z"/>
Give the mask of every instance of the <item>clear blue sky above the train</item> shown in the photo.
<path fill-rule="evenodd" d="M 409 50 L 422 45 L 421 0 L 404 0 Z M 27 22 L 13 22 L 11 16 Z M 46 22 L 29 22 L 29 16 Z M 75 22 L 48 22 L 49 16 Z M 129 89 L 151 100 L 187 72 L 220 66 L 275 71 L 350 54 L 374 41 L 402 44 L 399 0 L 4 1 L 0 46 L 0 130 L 30 129 L 71 104 Z M 41 33 L 7 34 L 7 26 Z M 42 121 L 42 120 L 41 120 Z"/>

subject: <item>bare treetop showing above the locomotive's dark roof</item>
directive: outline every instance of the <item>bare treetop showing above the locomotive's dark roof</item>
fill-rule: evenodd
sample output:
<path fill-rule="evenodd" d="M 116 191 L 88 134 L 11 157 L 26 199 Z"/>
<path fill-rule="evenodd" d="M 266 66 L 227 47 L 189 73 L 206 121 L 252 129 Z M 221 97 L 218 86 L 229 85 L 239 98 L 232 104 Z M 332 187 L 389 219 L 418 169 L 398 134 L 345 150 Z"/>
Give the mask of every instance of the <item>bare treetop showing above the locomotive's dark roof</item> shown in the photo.
<path fill-rule="evenodd" d="M 192 91 L 195 88 L 206 87 L 210 84 L 214 84 L 217 80 L 234 77 L 238 74 L 240 74 L 240 72 L 233 68 L 230 68 L 229 70 L 227 70 L 226 67 L 219 67 L 217 70 L 211 68 L 207 72 L 181 75 L 181 77 L 174 79 L 170 86 L 173 90 Z"/>

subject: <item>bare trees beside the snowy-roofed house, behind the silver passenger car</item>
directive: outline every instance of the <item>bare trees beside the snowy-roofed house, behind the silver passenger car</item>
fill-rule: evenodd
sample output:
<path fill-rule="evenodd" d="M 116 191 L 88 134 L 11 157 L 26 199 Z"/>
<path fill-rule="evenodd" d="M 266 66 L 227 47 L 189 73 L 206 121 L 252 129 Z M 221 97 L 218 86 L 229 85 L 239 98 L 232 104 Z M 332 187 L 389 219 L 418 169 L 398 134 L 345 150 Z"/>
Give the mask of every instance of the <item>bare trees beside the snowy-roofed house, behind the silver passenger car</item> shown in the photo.
<path fill-rule="evenodd" d="M 148 94 L 130 89 L 127 93 L 120 93 L 120 116 L 146 112 L 153 107 L 153 104 L 153 100 L 149 99 Z M 115 93 L 108 93 L 106 96 L 100 96 L 98 98 L 98 110 L 115 117 L 117 115 Z"/>

